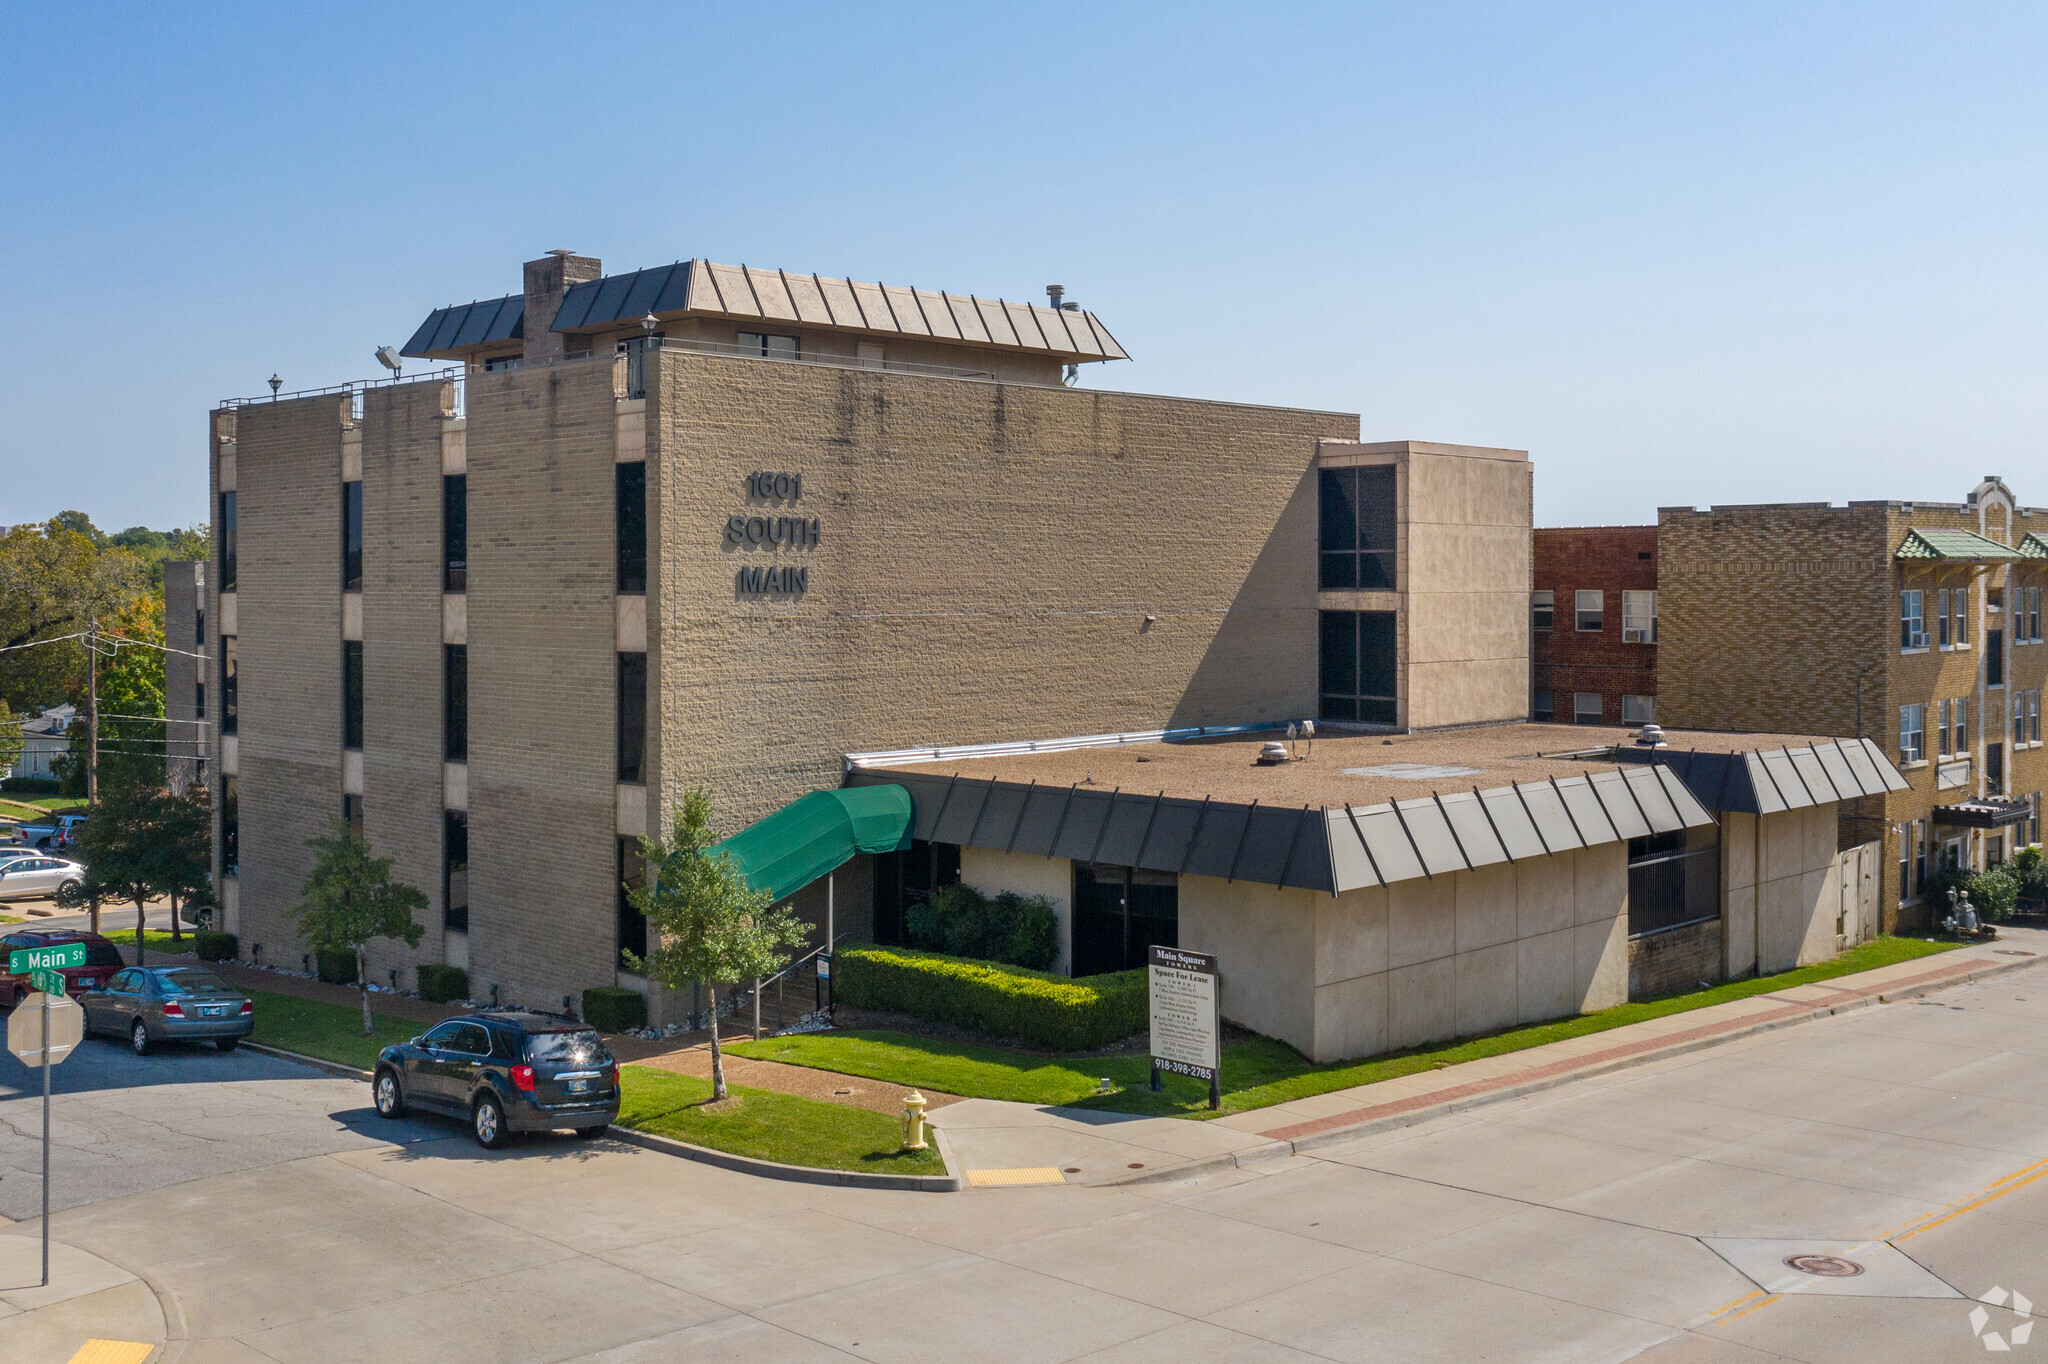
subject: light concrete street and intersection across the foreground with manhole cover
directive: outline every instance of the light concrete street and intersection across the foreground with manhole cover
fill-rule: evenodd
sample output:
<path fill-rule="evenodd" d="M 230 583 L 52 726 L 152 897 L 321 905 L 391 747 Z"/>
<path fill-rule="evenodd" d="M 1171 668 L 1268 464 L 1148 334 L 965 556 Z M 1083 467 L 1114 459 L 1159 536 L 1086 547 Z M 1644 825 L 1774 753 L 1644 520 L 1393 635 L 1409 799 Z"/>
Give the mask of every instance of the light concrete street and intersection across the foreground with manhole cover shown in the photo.
<path fill-rule="evenodd" d="M 76 1288 L 0 1284 L 10 1364 L 113 1329 L 221 1364 L 2048 1350 L 2042 969 L 1124 1188 L 838 1190 L 569 1139 L 483 1153 L 246 1053 L 98 1045 L 72 1065 L 53 1231 Z M 0 1098 L 0 1120 L 33 1131 L 35 1100 Z M 33 1169 L 10 1135 L 8 1214 Z M 37 1227 L 6 1231 L 0 1276 Z"/>

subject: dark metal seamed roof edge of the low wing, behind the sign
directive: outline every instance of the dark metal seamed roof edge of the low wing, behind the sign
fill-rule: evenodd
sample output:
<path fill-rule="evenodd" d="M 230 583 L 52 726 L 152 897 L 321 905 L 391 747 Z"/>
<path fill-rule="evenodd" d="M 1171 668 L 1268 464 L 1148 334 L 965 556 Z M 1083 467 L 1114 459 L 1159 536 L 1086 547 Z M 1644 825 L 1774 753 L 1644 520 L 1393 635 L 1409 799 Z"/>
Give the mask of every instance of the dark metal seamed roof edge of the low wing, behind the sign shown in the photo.
<path fill-rule="evenodd" d="M 846 782 L 903 786 L 920 840 L 1329 895 L 1714 823 L 1663 766 L 1335 809 L 860 766 Z"/>

